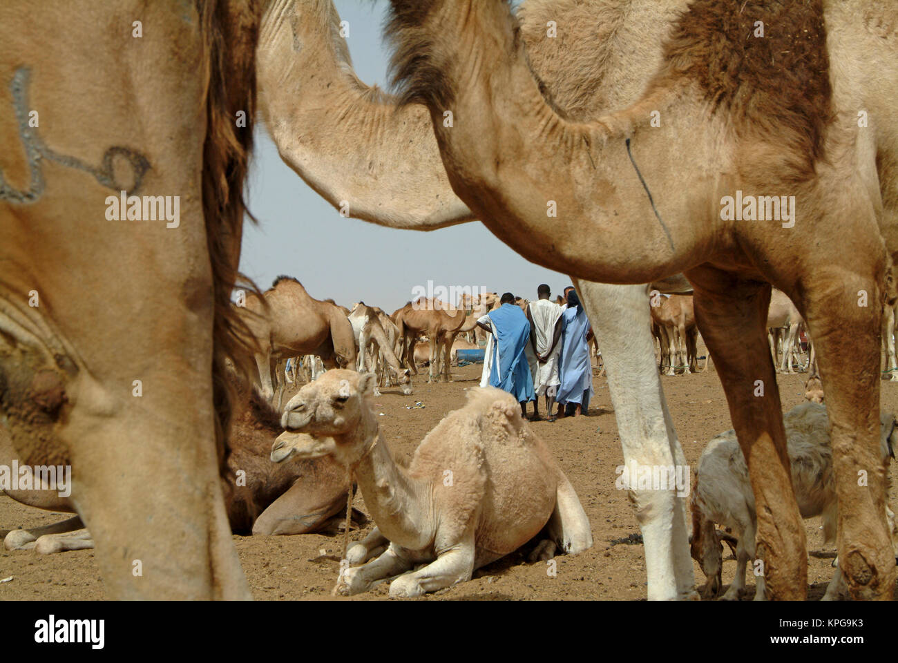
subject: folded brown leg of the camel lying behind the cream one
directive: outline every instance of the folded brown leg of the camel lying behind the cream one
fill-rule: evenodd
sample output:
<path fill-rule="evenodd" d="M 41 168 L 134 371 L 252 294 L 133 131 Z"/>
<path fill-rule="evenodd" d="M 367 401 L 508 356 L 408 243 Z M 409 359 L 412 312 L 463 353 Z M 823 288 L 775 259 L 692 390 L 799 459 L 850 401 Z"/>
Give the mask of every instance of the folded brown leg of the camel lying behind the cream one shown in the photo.
<path fill-rule="evenodd" d="M 345 484 L 313 490 L 300 478 L 260 513 L 252 524 L 252 535 L 308 534 L 345 509 Z"/>

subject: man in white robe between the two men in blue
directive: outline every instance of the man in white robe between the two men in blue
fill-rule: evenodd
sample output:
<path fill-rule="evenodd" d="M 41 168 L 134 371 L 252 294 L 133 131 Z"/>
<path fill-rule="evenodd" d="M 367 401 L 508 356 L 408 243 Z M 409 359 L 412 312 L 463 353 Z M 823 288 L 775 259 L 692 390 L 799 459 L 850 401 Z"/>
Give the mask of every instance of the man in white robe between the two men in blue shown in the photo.
<path fill-rule="evenodd" d="M 540 420 L 540 396 L 546 398 L 546 413 L 550 421 L 555 393 L 561 384 L 559 380 L 559 352 L 561 345 L 561 307 L 550 300 L 549 286 L 543 283 L 536 290 L 539 297 L 527 305 L 527 320 L 530 323 L 530 342 L 527 344 L 527 362 L 533 376 L 533 391 L 536 400 L 533 402 L 532 421 Z"/>

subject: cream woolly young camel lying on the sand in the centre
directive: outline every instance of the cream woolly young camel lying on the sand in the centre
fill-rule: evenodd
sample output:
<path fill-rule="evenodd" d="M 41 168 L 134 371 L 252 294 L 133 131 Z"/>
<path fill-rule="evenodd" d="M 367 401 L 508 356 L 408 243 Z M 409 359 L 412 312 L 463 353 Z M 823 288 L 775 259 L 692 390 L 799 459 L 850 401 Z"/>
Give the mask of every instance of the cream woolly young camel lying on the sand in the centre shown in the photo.
<path fill-rule="evenodd" d="M 374 375 L 329 371 L 287 403 L 272 459 L 333 456 L 357 476 L 377 528 L 347 559 L 337 591 L 358 594 L 398 576 L 392 597 L 418 597 L 471 573 L 545 531 L 531 555 L 590 548 L 589 520 L 549 447 L 522 419 L 514 397 L 471 389 L 415 450 L 408 469 L 393 460 L 372 409 Z M 421 569 L 412 570 L 418 564 Z M 410 572 L 409 572 L 410 571 Z M 403 574 L 403 575 L 400 575 Z"/>

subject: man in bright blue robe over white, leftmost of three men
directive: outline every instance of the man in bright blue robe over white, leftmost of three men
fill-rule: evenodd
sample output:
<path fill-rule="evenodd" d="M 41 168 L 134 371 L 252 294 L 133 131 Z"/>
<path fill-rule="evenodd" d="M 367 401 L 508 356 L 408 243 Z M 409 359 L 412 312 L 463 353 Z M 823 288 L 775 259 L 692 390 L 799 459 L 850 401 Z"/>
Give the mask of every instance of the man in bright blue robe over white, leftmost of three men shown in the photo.
<path fill-rule="evenodd" d="M 536 400 L 527 362 L 530 323 L 521 307 L 515 305 L 515 296 L 510 292 L 506 292 L 499 302 L 501 306 L 477 321 L 481 328 L 493 335 L 489 385 L 515 396 L 521 403 L 521 414 L 526 415 L 527 403 Z"/>

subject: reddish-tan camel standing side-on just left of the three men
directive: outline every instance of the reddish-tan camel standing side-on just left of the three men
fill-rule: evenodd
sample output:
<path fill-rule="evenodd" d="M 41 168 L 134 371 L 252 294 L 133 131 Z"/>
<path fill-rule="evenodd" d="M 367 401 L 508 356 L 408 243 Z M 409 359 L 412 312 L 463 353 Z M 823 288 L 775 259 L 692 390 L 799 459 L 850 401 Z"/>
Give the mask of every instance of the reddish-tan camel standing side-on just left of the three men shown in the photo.
<path fill-rule="evenodd" d="M 401 361 L 409 369 L 418 372 L 414 367 L 414 342 L 419 334 L 427 334 L 430 344 L 430 364 L 427 367 L 427 382 L 440 379 L 452 381 L 450 371 L 450 353 L 455 335 L 462 328 L 466 317 L 463 309 L 455 308 L 437 299 L 418 298 L 397 310 L 393 317 L 400 329 Z M 441 357 L 442 352 L 442 367 Z M 411 362 L 409 365 L 409 361 Z"/>

